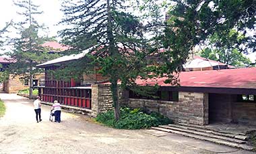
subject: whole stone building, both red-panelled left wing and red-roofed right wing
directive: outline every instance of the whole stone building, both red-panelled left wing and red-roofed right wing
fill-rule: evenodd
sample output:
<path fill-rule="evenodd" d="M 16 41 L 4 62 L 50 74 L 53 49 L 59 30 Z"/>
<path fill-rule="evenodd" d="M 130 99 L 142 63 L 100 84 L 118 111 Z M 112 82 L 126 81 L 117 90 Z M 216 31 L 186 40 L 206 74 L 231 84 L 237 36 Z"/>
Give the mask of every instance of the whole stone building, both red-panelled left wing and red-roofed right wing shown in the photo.
<path fill-rule="evenodd" d="M 79 60 L 86 54 L 65 56 L 38 65 L 45 70 L 65 62 Z M 46 72 L 47 73 L 47 72 Z M 250 123 L 256 125 L 256 68 L 181 72 L 180 86 L 164 84 L 165 78 L 137 80 L 141 86 L 160 85 L 157 98 L 119 91 L 121 104 L 164 114 L 177 123 L 209 125 L 211 123 Z M 75 83 L 48 80 L 38 87 L 44 102 L 59 100 L 63 107 L 73 108 L 95 117 L 113 108 L 110 85 L 99 74 Z"/>

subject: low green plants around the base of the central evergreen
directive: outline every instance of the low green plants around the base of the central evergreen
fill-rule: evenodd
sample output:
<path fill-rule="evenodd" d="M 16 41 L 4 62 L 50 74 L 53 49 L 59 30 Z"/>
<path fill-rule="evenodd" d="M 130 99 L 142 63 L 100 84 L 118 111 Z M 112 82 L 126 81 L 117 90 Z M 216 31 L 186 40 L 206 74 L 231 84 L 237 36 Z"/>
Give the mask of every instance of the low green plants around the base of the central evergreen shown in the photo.
<path fill-rule="evenodd" d="M 121 118 L 115 121 L 114 110 L 108 110 L 98 114 L 96 121 L 116 129 L 146 129 L 158 125 L 166 125 L 172 123 L 170 119 L 159 113 L 152 112 L 146 114 L 139 108 L 131 110 L 130 108 L 121 108 Z"/>

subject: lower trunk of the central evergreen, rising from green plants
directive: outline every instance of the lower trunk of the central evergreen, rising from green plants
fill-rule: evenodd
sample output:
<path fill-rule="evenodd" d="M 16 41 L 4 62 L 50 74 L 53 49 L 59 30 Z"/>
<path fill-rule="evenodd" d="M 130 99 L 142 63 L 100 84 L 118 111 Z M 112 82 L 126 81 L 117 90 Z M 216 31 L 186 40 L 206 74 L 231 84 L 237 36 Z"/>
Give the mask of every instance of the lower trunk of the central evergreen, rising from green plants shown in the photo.
<path fill-rule="evenodd" d="M 115 120 L 119 121 L 119 119 L 120 119 L 120 104 L 119 104 L 117 80 L 111 81 L 110 88 L 111 88 L 111 92 L 112 92 L 113 105 L 115 107 Z"/>

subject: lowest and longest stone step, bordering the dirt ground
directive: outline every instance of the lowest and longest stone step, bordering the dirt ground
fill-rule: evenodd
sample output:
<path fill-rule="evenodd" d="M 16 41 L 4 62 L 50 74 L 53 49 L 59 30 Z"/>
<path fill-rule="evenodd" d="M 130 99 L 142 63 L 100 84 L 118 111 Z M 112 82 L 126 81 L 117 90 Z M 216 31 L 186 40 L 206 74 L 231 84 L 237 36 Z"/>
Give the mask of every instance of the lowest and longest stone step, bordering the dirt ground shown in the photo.
<path fill-rule="evenodd" d="M 158 131 L 164 131 L 164 132 L 167 132 L 167 133 L 174 133 L 174 134 L 178 134 L 178 135 L 183 135 L 185 137 L 191 137 L 193 139 L 199 139 L 199 140 L 202 140 L 202 141 L 209 141 L 209 142 L 216 143 L 216 144 L 219 144 L 219 145 L 226 145 L 226 146 L 229 146 L 229 147 L 235 147 L 235 148 L 239 148 L 239 149 L 245 149 L 245 150 L 248 150 L 248 151 L 253 151 L 253 147 L 250 146 L 250 145 L 232 143 L 230 141 L 224 141 L 222 139 L 212 139 L 210 137 L 204 137 L 204 136 L 201 136 L 201 135 L 195 135 L 195 134 L 185 133 L 185 132 L 181 132 L 181 131 L 174 131 L 174 130 L 171 130 L 171 129 L 164 129 L 164 128 L 161 128 L 161 127 L 152 127 L 152 129 L 158 130 Z"/>

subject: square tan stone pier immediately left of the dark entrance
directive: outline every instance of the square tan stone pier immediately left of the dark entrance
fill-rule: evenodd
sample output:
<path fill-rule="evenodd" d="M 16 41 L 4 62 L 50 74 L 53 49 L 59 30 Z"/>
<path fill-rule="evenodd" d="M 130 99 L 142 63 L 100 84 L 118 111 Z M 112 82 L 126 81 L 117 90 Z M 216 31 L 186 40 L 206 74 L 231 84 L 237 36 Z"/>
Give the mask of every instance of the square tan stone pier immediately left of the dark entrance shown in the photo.
<path fill-rule="evenodd" d="M 179 123 L 208 125 L 208 94 L 179 92 Z"/>

